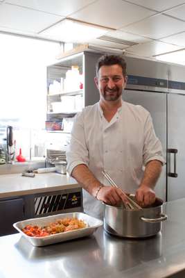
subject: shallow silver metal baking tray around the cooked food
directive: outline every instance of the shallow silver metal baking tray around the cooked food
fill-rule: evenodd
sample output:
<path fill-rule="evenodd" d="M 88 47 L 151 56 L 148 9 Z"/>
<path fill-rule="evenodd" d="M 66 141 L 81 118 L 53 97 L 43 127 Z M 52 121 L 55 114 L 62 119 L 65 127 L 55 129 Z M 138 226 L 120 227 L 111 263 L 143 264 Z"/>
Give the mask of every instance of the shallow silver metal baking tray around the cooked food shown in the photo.
<path fill-rule="evenodd" d="M 49 222 L 54 222 L 55 220 L 62 219 L 62 218 L 78 218 L 79 220 L 83 220 L 87 223 L 87 227 L 82 229 L 77 229 L 73 231 L 64 231 L 60 234 L 54 234 L 51 236 L 43 236 L 40 238 L 27 236 L 24 234 L 21 229 L 23 229 L 27 224 L 39 225 L 44 226 Z M 103 221 L 93 218 L 90 215 L 85 213 L 61 213 L 57 215 L 51 215 L 42 218 L 31 218 L 28 220 L 19 221 L 13 224 L 13 227 L 19 231 L 19 233 L 26 238 L 33 246 L 45 246 L 51 245 L 53 243 L 61 243 L 62 241 L 71 240 L 74 238 L 82 238 L 83 236 L 89 236 L 98 229 L 98 227 L 103 225 Z"/>

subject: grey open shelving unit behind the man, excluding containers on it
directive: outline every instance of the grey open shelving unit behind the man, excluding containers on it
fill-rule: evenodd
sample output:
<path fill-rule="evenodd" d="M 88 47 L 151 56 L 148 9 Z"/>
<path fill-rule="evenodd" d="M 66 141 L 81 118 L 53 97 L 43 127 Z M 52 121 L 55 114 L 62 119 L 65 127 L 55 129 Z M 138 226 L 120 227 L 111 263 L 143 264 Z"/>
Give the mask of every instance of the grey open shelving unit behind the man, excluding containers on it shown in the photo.
<path fill-rule="evenodd" d="M 71 56 L 64 57 L 55 63 L 54 65 L 50 65 L 47 67 L 47 79 L 48 79 L 48 94 L 47 94 L 47 117 L 46 122 L 49 125 L 51 122 L 54 124 L 60 124 L 64 120 L 64 118 L 74 117 L 76 113 L 80 112 L 78 110 L 73 110 L 73 108 L 64 107 L 64 109 L 60 110 L 60 103 L 61 97 L 76 97 L 82 96 L 82 107 L 94 104 L 99 99 L 99 94 L 96 89 L 96 85 L 94 83 L 94 76 L 96 74 L 96 61 L 98 60 L 101 54 L 94 53 L 91 51 L 82 51 L 78 54 L 73 54 Z M 83 88 L 79 90 L 73 91 L 60 91 L 56 92 L 55 94 L 49 93 L 49 85 L 53 83 L 53 81 L 60 81 L 61 79 L 64 80 L 67 70 L 71 70 L 71 67 L 75 65 L 78 66 L 80 74 L 82 74 L 82 85 Z M 71 82 L 73 82 L 71 80 Z M 80 85 L 80 84 L 79 84 Z M 61 85 L 62 88 L 62 85 Z M 61 89 L 62 90 L 62 89 Z M 69 98 L 70 100 L 70 98 Z M 53 111 L 53 103 L 57 103 L 58 108 Z M 56 105 L 56 104 L 55 104 Z M 70 105 L 69 105 L 70 106 Z M 62 107 L 62 106 L 61 106 Z M 73 105 L 71 105 L 73 107 Z M 51 128 L 52 129 L 52 126 Z M 61 126 L 62 129 L 62 126 Z M 50 130 L 49 132 L 56 132 L 54 130 Z M 58 131 L 61 133 L 66 133 L 66 131 Z M 69 131 L 67 131 L 69 133 Z"/>

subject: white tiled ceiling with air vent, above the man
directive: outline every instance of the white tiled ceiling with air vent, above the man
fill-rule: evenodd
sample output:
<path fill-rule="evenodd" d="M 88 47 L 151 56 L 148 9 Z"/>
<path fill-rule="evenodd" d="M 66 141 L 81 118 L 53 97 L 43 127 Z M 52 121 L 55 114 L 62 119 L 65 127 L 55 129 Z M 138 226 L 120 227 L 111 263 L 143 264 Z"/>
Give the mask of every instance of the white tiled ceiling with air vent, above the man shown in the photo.
<path fill-rule="evenodd" d="M 50 27 L 65 18 L 110 28 L 103 37 L 81 43 L 146 58 L 185 49 L 185 1 L 0 0 L 3 32 L 53 40 Z"/>

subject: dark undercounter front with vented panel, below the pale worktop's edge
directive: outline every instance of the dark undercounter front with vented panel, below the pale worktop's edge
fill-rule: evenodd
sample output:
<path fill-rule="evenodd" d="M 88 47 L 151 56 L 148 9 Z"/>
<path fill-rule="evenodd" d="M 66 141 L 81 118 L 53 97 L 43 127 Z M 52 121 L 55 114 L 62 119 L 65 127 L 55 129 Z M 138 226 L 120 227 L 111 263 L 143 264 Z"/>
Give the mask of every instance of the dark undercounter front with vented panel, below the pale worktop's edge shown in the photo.
<path fill-rule="evenodd" d="M 82 211 L 81 188 L 0 199 L 0 236 L 17 233 L 15 222 L 73 211 Z"/>

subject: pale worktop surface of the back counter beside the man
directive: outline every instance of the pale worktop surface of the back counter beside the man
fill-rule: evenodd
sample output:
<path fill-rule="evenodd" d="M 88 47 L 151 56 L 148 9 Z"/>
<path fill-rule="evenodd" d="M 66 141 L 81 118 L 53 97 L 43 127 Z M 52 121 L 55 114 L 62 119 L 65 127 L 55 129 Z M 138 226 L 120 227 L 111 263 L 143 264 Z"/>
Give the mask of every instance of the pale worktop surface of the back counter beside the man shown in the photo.
<path fill-rule="evenodd" d="M 45 193 L 54 190 L 81 187 L 68 174 L 56 172 L 35 174 L 35 177 L 22 177 L 19 174 L 0 175 L 0 198 Z"/>

